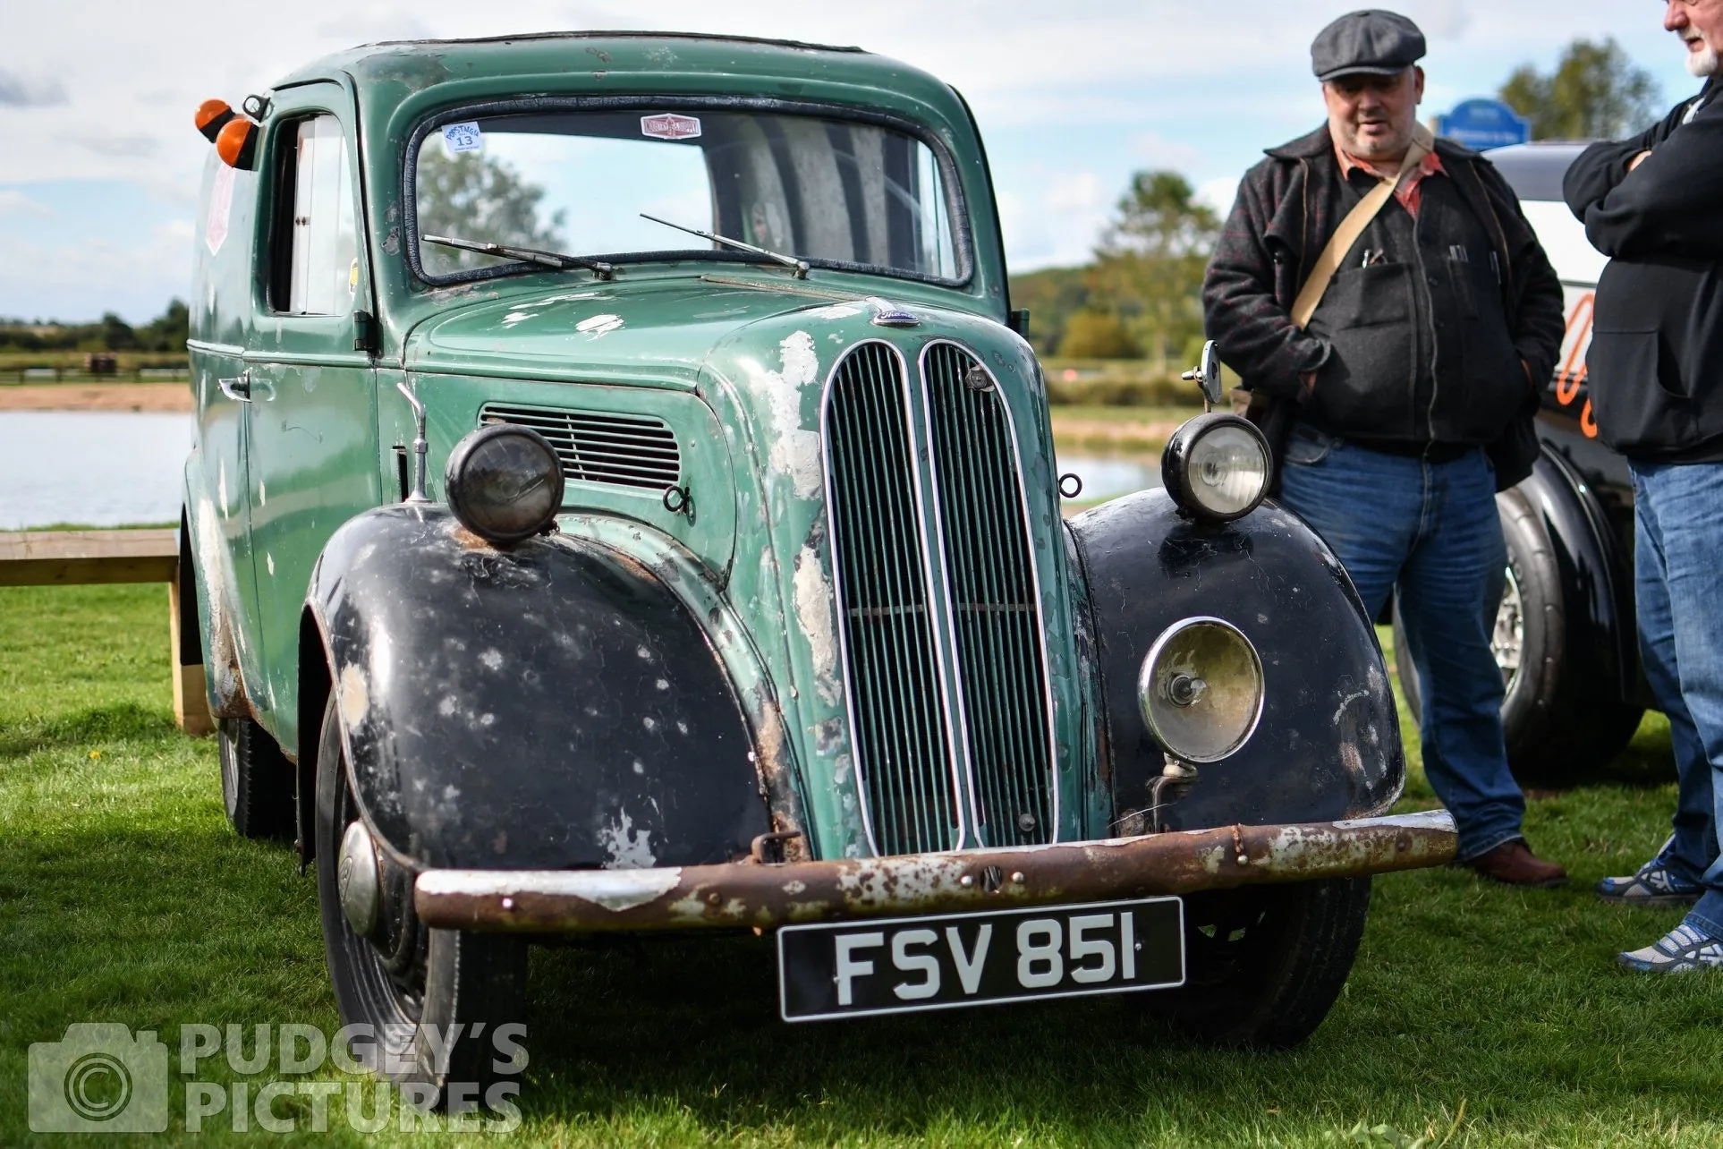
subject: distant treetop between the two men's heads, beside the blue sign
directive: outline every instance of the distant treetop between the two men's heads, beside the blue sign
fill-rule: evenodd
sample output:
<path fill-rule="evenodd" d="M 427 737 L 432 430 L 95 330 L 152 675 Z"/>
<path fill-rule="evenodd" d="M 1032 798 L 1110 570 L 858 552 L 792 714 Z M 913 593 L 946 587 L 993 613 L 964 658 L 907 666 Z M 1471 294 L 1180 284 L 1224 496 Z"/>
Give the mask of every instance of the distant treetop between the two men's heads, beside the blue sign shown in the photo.
<path fill-rule="evenodd" d="M 1501 100 L 1532 121 L 1533 140 L 1614 140 L 1644 131 L 1663 103 L 1658 81 L 1614 38 L 1575 40 L 1549 74 L 1521 64 Z"/>

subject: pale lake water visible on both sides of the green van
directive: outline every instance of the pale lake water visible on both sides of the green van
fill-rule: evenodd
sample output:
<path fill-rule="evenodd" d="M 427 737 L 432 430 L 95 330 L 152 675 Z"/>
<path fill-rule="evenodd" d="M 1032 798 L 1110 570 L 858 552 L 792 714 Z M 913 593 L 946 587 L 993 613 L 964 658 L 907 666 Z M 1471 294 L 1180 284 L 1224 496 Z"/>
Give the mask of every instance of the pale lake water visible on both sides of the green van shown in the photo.
<path fill-rule="evenodd" d="M 179 519 L 191 415 L 0 412 L 0 531 Z M 1084 501 L 1161 486 L 1160 456 L 1060 455 Z"/>

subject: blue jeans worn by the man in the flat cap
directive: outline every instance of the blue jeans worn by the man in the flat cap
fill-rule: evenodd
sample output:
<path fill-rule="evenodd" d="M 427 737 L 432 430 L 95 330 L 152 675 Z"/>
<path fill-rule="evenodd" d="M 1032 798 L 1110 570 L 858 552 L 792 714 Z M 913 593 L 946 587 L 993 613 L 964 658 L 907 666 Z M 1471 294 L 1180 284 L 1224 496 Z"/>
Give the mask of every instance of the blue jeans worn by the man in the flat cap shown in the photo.
<path fill-rule="evenodd" d="M 1490 653 L 1508 548 L 1489 458 L 1475 450 L 1430 463 L 1301 425 L 1280 501 L 1334 550 L 1372 617 L 1399 586 L 1423 693 L 1423 773 L 1459 827 L 1459 860 L 1521 837 L 1525 796 L 1508 770 L 1502 672 Z"/>

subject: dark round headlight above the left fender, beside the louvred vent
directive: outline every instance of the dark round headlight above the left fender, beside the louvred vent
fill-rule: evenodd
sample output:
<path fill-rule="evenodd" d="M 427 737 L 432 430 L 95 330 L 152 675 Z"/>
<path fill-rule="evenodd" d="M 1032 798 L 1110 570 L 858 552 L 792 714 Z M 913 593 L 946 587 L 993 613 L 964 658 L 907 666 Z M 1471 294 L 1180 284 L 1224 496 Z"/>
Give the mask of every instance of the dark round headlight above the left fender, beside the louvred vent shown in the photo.
<path fill-rule="evenodd" d="M 450 451 L 443 489 L 463 527 L 488 543 L 519 543 L 562 508 L 562 462 L 538 431 L 491 424 Z"/>

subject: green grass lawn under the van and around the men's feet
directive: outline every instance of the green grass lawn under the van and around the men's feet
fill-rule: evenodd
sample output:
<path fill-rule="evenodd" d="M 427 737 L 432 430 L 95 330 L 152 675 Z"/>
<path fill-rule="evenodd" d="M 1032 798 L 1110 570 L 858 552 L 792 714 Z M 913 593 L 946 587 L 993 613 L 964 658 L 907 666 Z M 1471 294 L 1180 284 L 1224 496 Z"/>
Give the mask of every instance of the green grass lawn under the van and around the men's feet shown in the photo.
<path fill-rule="evenodd" d="M 538 951 L 512 1140 L 1723 1144 L 1723 977 L 1614 968 L 1680 911 L 1590 894 L 1663 839 L 1666 756 L 1647 722 L 1608 777 L 1532 803 L 1568 891 L 1378 880 L 1347 991 L 1294 1053 L 1191 1044 L 1129 996 L 786 1027 L 768 941 Z M 1408 808 L 1430 803 L 1415 780 Z M 188 1022 L 338 1025 L 312 882 L 227 832 L 214 742 L 172 727 L 162 587 L 0 589 L 0 1144 L 31 1139 L 28 1046 L 67 1023 L 169 1049 Z M 300 1139 L 360 1140 L 293 1104 Z"/>

